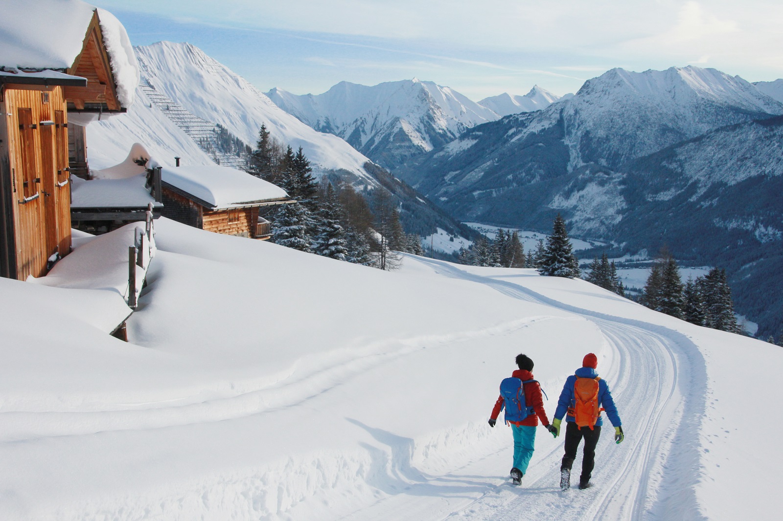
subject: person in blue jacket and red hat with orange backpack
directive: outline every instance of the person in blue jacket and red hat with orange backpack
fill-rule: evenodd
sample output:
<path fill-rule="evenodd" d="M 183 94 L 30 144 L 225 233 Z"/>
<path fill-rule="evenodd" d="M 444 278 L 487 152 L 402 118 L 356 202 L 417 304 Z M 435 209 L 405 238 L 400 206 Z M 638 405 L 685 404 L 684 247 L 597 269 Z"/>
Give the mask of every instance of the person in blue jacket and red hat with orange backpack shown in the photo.
<path fill-rule="evenodd" d="M 560 467 L 560 487 L 563 490 L 571 486 L 571 466 L 582 438 L 585 440 L 585 446 L 579 489 L 590 487 L 590 476 L 595 466 L 595 447 L 598 437 L 601 436 L 601 425 L 604 423 L 601 411 L 606 411 L 609 421 L 615 427 L 615 443 L 619 444 L 625 437 L 612 393 L 609 392 L 606 380 L 598 378 L 598 372 L 595 370 L 597 365 L 598 358 L 594 354 L 585 356 L 582 367 L 565 380 L 563 391 L 557 400 L 557 410 L 554 411 L 552 425 L 557 429 L 555 437 L 560 434 L 564 415 L 568 425 L 565 429 L 565 455 Z"/>

